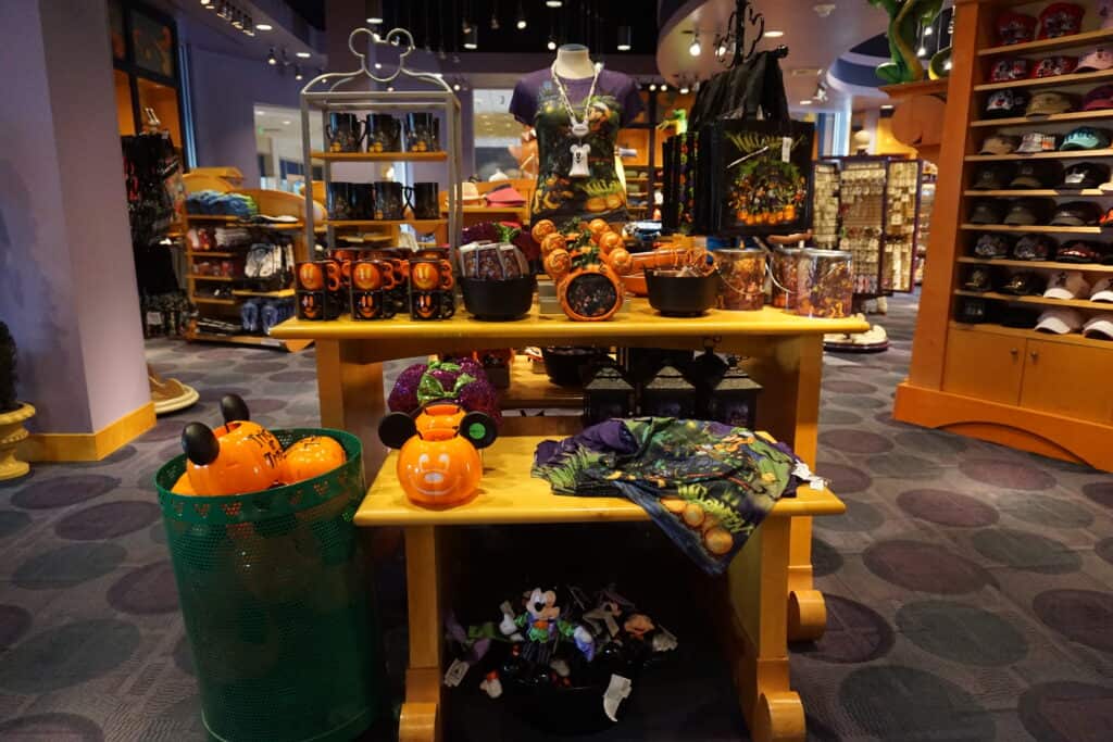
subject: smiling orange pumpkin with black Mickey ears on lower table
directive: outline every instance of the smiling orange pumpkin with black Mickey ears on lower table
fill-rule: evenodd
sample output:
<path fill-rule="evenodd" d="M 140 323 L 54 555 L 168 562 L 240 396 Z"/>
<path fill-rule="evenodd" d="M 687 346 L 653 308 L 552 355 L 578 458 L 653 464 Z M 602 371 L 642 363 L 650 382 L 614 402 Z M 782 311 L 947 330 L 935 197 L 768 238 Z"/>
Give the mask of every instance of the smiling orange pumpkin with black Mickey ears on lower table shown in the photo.
<path fill-rule="evenodd" d="M 462 415 L 453 427 L 422 431 L 405 413 L 391 413 L 378 425 L 383 443 L 398 449 L 395 472 L 403 492 L 425 507 L 452 507 L 475 495 L 483 475 L 477 449 L 491 445 L 495 436 L 494 421 L 475 412 Z"/>

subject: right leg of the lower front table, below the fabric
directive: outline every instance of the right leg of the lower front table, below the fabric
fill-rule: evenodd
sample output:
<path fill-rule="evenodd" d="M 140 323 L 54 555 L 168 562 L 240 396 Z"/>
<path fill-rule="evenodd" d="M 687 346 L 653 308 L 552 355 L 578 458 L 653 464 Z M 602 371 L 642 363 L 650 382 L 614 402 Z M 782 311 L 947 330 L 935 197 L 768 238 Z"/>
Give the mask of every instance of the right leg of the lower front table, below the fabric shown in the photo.
<path fill-rule="evenodd" d="M 723 646 L 755 742 L 804 742 L 804 704 L 789 685 L 786 631 L 789 517 L 768 517 L 727 573 Z"/>

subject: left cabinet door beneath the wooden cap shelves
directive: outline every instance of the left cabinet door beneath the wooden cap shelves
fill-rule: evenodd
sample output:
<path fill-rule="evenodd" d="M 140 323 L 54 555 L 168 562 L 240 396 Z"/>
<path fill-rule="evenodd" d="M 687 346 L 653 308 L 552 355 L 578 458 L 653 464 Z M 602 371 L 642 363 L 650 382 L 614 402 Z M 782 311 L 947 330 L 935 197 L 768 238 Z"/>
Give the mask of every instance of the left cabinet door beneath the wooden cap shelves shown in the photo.
<path fill-rule="evenodd" d="M 943 390 L 1015 405 L 1024 373 L 1023 337 L 953 327 L 947 335 Z"/>

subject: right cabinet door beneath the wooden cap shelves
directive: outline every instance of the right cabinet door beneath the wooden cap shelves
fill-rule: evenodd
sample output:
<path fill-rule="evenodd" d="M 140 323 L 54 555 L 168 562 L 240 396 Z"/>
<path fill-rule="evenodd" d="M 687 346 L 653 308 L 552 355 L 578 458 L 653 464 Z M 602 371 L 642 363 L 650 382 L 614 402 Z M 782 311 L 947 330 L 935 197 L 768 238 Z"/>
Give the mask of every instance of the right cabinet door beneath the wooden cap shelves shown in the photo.
<path fill-rule="evenodd" d="M 1113 423 L 1109 354 L 1054 340 L 1027 340 L 1021 406 L 1030 409 Z"/>

